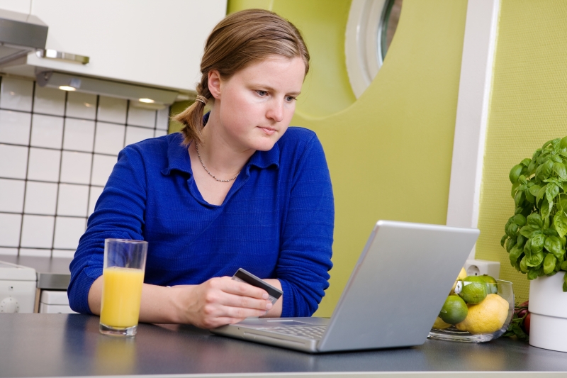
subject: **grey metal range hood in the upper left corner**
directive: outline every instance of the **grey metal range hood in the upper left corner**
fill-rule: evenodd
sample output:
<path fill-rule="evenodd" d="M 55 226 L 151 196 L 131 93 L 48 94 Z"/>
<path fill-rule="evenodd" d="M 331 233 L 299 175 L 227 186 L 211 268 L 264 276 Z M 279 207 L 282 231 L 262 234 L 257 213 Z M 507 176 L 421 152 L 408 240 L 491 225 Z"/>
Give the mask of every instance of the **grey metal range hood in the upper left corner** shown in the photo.
<path fill-rule="evenodd" d="M 45 50 L 47 25 L 38 17 L 0 10 L 0 65 Z"/>

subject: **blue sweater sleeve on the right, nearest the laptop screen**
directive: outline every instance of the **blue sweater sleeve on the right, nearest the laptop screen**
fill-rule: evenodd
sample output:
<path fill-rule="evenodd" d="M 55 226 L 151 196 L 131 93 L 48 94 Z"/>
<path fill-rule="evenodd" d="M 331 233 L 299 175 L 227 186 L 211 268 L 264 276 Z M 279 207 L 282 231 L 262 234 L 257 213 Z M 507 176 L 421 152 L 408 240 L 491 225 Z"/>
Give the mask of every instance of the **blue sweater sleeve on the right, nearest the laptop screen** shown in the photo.
<path fill-rule="evenodd" d="M 325 153 L 318 138 L 306 145 L 291 184 L 276 276 L 281 316 L 311 316 L 329 287 L 335 208 Z"/>

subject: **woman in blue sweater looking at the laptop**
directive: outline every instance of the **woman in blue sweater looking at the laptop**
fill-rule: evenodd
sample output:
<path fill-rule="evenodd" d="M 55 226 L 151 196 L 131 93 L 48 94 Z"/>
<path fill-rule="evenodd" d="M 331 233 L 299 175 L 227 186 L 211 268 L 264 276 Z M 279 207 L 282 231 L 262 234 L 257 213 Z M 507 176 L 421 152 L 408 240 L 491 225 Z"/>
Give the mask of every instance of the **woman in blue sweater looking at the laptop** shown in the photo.
<path fill-rule="evenodd" d="M 332 188 L 315 133 L 288 129 L 308 69 L 301 34 L 275 13 L 220 21 L 197 99 L 176 116 L 182 132 L 118 155 L 71 263 L 74 311 L 100 312 L 105 238 L 149 243 L 140 321 L 215 328 L 317 309 L 332 267 Z M 240 267 L 283 296 L 272 306 L 230 279 Z"/>

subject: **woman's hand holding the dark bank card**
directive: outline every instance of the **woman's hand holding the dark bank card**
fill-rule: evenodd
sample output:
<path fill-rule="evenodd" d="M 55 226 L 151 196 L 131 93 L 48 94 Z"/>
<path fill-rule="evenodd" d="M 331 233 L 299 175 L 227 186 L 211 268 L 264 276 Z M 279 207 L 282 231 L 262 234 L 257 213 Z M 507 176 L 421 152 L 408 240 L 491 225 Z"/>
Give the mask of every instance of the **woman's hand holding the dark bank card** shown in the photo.
<path fill-rule="evenodd" d="M 265 315 L 272 304 L 263 289 L 230 277 L 211 278 L 200 285 L 170 288 L 176 293 L 179 323 L 201 328 L 234 324 L 249 316 Z"/>

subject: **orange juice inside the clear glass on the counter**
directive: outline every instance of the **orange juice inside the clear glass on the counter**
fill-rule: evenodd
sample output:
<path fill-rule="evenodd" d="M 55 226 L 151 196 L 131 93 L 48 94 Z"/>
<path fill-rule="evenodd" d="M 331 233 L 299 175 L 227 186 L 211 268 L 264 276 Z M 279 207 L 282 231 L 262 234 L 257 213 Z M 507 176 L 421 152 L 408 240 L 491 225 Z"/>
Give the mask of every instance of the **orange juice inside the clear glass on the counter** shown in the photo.
<path fill-rule="evenodd" d="M 101 323 L 115 328 L 137 325 L 144 271 L 108 267 L 103 270 Z"/>

